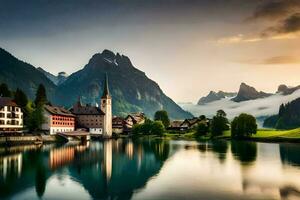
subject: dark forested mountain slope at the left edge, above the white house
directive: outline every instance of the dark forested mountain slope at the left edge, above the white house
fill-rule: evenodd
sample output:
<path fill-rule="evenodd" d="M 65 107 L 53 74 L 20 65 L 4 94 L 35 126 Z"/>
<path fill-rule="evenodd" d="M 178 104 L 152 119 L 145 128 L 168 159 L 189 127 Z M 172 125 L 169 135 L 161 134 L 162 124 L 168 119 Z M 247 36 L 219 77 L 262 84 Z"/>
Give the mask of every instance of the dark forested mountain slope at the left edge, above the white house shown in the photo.
<path fill-rule="evenodd" d="M 53 99 L 56 86 L 34 66 L 23 62 L 4 49 L 0 48 L 0 83 L 6 83 L 10 88 L 22 89 L 31 99 L 39 84 L 47 88 L 47 95 Z"/>

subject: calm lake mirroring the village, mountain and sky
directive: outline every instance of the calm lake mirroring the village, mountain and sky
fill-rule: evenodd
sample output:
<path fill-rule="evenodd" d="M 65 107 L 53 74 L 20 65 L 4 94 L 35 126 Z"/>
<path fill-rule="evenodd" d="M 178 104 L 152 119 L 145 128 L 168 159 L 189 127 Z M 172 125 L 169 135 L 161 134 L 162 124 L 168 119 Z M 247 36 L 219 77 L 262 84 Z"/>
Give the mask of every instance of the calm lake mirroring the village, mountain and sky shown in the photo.
<path fill-rule="evenodd" d="M 118 139 L 0 147 L 0 199 L 300 199 L 300 145 Z"/>

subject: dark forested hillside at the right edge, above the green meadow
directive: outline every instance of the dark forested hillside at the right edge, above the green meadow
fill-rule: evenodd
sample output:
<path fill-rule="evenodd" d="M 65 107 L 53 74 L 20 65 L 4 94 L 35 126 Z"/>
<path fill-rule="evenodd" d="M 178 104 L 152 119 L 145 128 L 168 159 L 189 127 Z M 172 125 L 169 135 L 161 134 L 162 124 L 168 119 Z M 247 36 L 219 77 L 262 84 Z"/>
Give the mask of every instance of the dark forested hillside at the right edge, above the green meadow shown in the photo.
<path fill-rule="evenodd" d="M 276 129 L 294 129 L 300 127 L 300 98 L 287 104 L 281 104 L 277 115 L 264 121 L 264 127 Z"/>

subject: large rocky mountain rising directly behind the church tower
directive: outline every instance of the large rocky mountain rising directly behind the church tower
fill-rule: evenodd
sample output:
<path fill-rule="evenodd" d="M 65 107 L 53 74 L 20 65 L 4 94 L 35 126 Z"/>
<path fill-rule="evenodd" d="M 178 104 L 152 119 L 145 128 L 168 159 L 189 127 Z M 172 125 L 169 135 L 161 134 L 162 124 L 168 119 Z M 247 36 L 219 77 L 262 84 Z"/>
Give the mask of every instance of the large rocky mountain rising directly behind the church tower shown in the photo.
<path fill-rule="evenodd" d="M 105 73 L 113 97 L 114 115 L 140 111 L 153 117 L 157 110 L 164 109 L 172 119 L 192 117 L 167 97 L 157 83 L 136 69 L 128 57 L 109 50 L 93 55 L 83 69 L 59 85 L 55 103 L 72 106 L 78 96 L 83 103 L 99 103 Z"/>

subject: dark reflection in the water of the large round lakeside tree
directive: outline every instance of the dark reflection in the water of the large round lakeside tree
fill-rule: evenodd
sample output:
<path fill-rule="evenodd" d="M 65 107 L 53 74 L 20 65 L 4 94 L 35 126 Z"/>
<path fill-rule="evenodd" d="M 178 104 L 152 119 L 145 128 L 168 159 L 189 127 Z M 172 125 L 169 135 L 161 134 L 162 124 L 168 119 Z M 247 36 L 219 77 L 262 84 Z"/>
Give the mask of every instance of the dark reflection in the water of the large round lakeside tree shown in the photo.
<path fill-rule="evenodd" d="M 251 163 L 256 160 L 257 144 L 255 142 L 232 141 L 231 152 L 242 163 Z"/>

